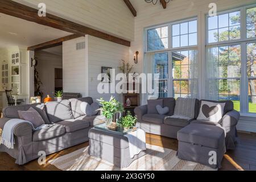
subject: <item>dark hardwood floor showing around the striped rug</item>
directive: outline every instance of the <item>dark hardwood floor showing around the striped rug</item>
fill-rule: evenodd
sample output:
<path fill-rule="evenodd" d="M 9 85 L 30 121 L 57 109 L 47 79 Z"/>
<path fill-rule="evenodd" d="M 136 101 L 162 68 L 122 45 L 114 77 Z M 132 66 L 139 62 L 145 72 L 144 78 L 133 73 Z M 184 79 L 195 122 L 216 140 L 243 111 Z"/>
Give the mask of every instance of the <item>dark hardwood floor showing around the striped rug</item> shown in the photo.
<path fill-rule="evenodd" d="M 256 170 L 256 134 L 244 134 L 239 133 L 238 143 L 236 150 L 228 151 L 224 160 L 222 161 L 221 171 L 227 170 Z M 170 148 L 177 151 L 177 140 L 166 137 L 160 137 L 158 135 L 146 135 L 146 142 L 152 145 Z M 82 143 L 78 146 L 68 148 L 66 150 L 57 152 L 47 156 L 47 161 L 56 159 L 59 156 L 69 154 L 73 151 L 79 150 L 80 148 L 86 147 L 89 142 Z M 23 166 L 15 164 L 15 160 L 6 153 L 0 152 L 0 170 L 1 171 L 55 171 L 58 170 L 51 164 L 39 166 L 38 160 L 34 160 Z"/>

